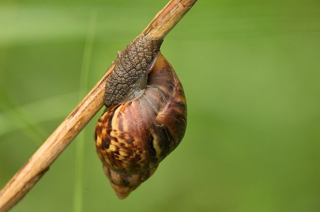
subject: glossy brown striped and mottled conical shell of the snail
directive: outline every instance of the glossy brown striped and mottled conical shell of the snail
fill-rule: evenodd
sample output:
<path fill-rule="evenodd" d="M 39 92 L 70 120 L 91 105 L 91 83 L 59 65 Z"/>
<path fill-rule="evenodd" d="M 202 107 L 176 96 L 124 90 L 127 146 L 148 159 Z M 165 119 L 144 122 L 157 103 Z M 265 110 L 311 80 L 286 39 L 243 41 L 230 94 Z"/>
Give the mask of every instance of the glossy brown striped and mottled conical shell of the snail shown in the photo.
<path fill-rule="evenodd" d="M 107 108 L 96 125 L 96 151 L 119 198 L 150 177 L 179 145 L 186 118 L 181 83 L 159 53 L 143 95 Z"/>

